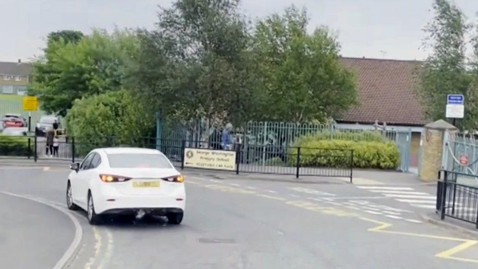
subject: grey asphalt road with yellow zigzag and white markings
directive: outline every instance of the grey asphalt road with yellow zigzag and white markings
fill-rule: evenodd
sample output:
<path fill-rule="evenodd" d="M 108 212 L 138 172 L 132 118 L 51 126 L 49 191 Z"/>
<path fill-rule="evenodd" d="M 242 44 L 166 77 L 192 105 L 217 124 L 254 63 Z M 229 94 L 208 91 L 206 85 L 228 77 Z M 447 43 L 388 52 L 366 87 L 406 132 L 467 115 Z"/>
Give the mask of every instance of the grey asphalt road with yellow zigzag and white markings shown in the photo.
<path fill-rule="evenodd" d="M 1 268 L 51 268 L 74 240 L 74 223 L 62 212 L 68 173 L 0 166 L 0 192 L 61 206 L 0 195 L 0 256 L 15 257 L 0 259 Z M 432 186 L 186 175 L 187 209 L 179 226 L 163 219 L 90 226 L 84 212 L 74 212 L 82 237 L 68 268 L 478 267 L 476 238 L 425 222 L 420 214 L 430 209 L 373 192 L 409 188 L 432 196 Z M 15 214 L 8 214 L 12 207 Z M 37 259 L 42 263 L 24 264 Z"/>

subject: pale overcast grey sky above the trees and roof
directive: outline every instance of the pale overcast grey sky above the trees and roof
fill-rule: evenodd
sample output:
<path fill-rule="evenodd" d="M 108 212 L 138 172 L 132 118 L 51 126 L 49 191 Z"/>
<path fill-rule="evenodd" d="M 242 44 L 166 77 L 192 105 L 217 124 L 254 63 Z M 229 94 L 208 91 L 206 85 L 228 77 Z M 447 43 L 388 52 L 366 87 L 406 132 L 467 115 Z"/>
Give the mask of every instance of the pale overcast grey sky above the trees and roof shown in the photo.
<path fill-rule="evenodd" d="M 51 31 L 93 27 L 153 28 L 158 4 L 171 0 L 0 0 L 0 61 L 29 61 L 42 53 Z M 477 22 L 478 0 L 454 0 L 469 22 Z M 257 20 L 295 4 L 307 7 L 309 30 L 326 25 L 337 34 L 342 56 L 423 60 L 423 27 L 432 0 L 242 0 L 243 13 Z"/>

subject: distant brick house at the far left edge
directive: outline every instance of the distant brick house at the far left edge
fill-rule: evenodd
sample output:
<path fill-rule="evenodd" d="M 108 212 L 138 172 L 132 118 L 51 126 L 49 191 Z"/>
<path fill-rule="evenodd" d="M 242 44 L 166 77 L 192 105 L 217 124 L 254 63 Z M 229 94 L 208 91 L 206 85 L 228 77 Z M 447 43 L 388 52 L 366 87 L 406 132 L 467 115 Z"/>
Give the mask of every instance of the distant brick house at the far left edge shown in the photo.
<path fill-rule="evenodd" d="M 30 82 L 31 65 L 22 63 L 0 62 L 0 94 L 24 95 Z"/>

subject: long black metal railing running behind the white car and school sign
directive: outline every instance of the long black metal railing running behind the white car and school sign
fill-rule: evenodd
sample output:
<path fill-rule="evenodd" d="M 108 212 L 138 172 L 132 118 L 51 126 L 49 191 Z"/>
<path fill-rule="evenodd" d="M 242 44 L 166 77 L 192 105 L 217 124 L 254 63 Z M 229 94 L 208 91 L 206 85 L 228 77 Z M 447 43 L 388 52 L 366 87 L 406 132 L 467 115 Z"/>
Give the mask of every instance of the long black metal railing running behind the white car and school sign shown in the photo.
<path fill-rule="evenodd" d="M 121 141 L 116 137 L 88 139 L 62 136 L 54 144 L 43 137 L 11 137 L 0 140 L 0 155 L 24 156 L 37 159 L 80 160 L 99 147 L 144 147 L 162 151 L 175 166 L 184 162 L 184 148 L 220 150 L 220 145 L 210 141 L 165 140 L 135 138 Z M 8 151 L 7 151 L 8 149 Z M 3 151 L 4 152 L 3 152 Z M 347 177 L 352 182 L 354 153 L 351 149 L 306 148 L 285 146 L 231 145 L 236 151 L 236 171 L 299 176 Z"/>

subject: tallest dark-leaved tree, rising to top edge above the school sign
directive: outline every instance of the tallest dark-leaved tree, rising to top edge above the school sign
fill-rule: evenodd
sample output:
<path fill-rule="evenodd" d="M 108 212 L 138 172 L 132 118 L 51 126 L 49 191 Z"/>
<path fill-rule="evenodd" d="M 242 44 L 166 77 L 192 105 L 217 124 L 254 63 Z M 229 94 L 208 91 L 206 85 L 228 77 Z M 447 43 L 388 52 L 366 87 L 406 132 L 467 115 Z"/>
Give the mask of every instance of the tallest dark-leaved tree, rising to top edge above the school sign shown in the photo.
<path fill-rule="evenodd" d="M 238 0 L 177 0 L 142 31 L 136 87 L 174 119 L 247 119 L 252 67 Z"/>

